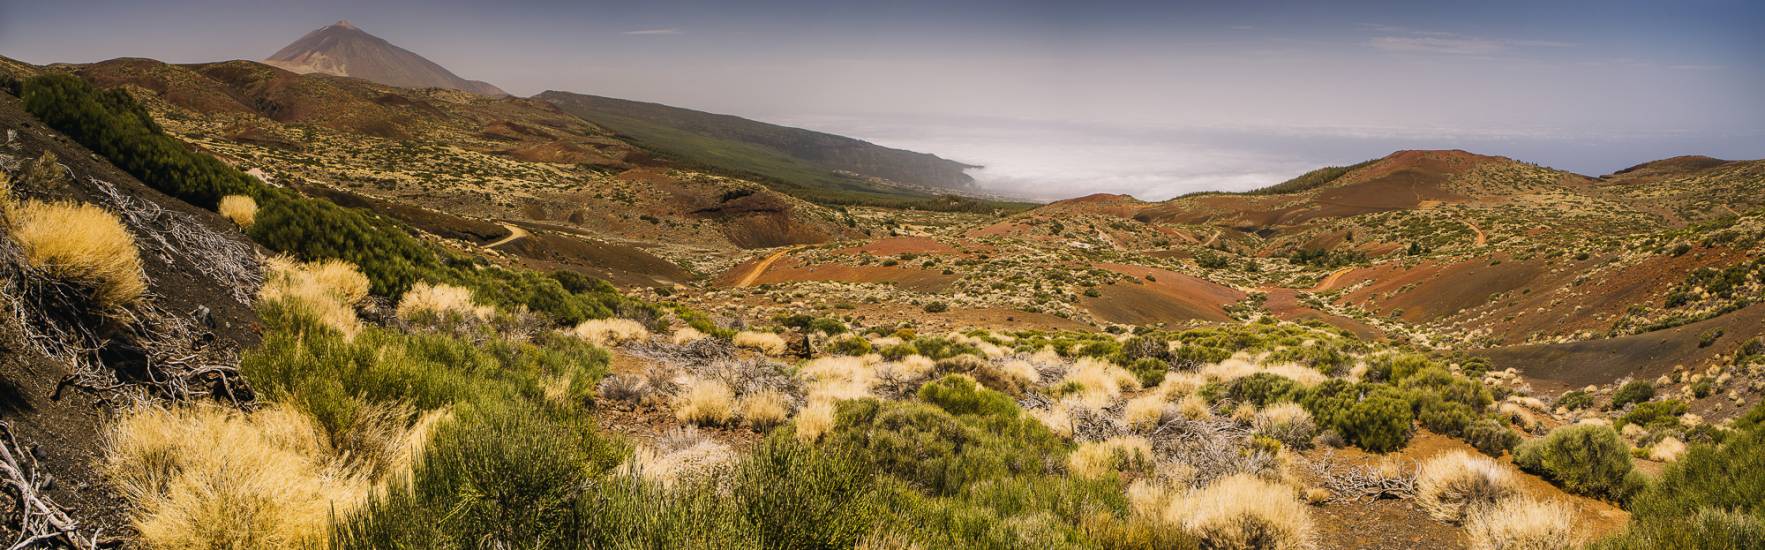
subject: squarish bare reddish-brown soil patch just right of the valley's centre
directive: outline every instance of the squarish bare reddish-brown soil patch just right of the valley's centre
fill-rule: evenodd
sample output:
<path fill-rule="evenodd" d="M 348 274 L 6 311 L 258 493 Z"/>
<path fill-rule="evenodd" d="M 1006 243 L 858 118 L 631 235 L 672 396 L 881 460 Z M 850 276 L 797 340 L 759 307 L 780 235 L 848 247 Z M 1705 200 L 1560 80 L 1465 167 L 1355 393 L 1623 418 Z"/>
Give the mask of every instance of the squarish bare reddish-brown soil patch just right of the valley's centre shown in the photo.
<path fill-rule="evenodd" d="M 1225 307 L 1244 300 L 1244 293 L 1234 287 L 1170 270 L 1114 263 L 1096 266 L 1138 282 L 1101 286 L 1100 296 L 1080 298 L 1080 305 L 1108 323 L 1232 321 Z M 1158 280 L 1145 280 L 1145 275 Z"/>

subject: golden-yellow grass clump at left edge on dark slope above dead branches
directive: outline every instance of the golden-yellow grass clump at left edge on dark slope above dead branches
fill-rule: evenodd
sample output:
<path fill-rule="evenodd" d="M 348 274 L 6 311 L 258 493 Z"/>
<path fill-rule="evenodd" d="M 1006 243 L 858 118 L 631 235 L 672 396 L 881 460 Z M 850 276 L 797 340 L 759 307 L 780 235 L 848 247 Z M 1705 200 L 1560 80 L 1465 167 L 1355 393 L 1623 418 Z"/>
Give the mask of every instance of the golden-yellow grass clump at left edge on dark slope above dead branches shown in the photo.
<path fill-rule="evenodd" d="M 78 203 L 7 199 L 12 240 L 32 268 L 92 289 L 106 308 L 122 308 L 146 293 L 134 234 L 109 210 Z"/>

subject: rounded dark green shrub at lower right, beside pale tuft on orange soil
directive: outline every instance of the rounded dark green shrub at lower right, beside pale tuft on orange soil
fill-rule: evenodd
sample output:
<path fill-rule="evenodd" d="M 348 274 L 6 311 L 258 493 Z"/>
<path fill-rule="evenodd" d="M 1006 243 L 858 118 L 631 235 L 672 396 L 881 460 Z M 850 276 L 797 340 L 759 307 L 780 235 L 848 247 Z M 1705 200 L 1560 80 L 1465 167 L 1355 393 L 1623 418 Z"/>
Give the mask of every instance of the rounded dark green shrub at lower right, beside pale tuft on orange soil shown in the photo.
<path fill-rule="evenodd" d="M 1631 474 L 1631 453 L 1619 432 L 1601 425 L 1560 427 L 1527 441 L 1514 450 L 1514 464 L 1567 492 L 1617 502 L 1641 483 Z"/>

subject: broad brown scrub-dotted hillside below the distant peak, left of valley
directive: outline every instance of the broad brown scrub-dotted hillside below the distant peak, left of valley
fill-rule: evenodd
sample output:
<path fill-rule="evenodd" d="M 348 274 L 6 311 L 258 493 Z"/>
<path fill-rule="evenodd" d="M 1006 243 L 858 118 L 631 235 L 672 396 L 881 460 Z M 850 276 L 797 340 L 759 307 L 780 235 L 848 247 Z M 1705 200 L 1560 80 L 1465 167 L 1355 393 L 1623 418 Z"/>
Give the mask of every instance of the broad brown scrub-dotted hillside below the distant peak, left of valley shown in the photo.
<path fill-rule="evenodd" d="M 847 215 L 764 185 L 655 166 L 544 100 L 394 88 L 254 62 L 124 58 L 53 71 L 129 90 L 171 134 L 267 180 L 374 204 L 471 247 L 515 226 L 533 238 L 498 250 L 621 284 L 681 282 L 741 247 L 861 234 Z"/>

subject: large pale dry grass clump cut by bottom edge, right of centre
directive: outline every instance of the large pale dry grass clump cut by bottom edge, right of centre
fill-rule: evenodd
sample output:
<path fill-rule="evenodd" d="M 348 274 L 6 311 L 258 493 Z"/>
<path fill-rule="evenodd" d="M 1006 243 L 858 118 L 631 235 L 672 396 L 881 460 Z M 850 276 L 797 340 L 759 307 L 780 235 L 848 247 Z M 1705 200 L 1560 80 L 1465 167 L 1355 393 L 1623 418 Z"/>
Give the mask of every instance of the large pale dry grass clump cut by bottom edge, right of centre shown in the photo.
<path fill-rule="evenodd" d="M 1294 490 L 1251 474 L 1216 479 L 1177 497 L 1165 520 L 1202 548 L 1311 548 L 1311 511 Z"/>

